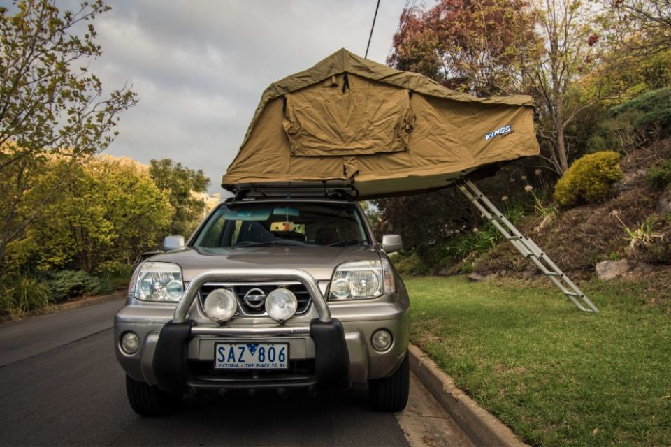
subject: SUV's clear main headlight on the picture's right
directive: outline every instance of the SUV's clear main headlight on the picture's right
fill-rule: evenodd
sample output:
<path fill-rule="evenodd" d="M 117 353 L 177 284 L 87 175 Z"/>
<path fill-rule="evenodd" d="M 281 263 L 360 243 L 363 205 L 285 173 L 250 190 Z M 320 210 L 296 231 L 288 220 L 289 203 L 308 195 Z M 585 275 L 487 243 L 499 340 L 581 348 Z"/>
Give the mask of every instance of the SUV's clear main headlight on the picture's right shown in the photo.
<path fill-rule="evenodd" d="M 340 264 L 335 269 L 329 287 L 329 299 L 375 298 L 394 291 L 394 272 L 387 259 L 353 261 Z"/>

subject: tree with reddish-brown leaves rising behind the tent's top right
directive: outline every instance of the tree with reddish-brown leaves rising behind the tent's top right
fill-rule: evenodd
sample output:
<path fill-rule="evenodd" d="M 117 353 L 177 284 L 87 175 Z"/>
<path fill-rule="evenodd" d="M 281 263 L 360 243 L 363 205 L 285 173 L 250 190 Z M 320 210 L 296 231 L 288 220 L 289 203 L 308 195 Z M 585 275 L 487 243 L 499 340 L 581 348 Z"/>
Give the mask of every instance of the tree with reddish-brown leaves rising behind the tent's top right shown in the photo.
<path fill-rule="evenodd" d="M 534 11 L 524 0 L 441 0 L 404 11 L 388 63 L 476 96 L 510 94 L 538 50 Z"/>

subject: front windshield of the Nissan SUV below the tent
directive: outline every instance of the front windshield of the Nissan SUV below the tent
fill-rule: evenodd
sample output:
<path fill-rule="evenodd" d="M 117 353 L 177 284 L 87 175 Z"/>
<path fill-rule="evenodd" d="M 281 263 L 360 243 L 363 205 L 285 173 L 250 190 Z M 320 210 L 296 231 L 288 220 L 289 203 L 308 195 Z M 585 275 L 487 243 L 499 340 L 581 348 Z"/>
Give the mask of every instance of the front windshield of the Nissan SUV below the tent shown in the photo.
<path fill-rule="evenodd" d="M 350 203 L 234 203 L 222 205 L 199 232 L 194 247 L 368 245 Z"/>

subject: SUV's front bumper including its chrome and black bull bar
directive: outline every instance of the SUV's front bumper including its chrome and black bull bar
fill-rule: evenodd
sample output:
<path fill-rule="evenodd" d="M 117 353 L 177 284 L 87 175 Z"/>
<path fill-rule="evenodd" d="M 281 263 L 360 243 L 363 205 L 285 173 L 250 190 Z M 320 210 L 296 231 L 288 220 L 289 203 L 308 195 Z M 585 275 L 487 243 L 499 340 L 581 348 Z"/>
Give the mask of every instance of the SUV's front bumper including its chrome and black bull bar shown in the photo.
<path fill-rule="evenodd" d="M 234 275 L 234 276 L 233 276 Z M 196 292 L 205 282 L 226 279 L 299 280 L 312 296 L 306 314 L 285 325 L 270 318 L 236 318 L 225 327 L 204 317 Z M 347 388 L 393 374 L 407 351 L 410 326 L 407 296 L 397 292 L 374 300 L 326 303 L 322 290 L 302 270 L 241 272 L 217 270 L 194 277 L 178 306 L 129 298 L 115 317 L 115 347 L 120 365 L 132 378 L 183 393 L 198 389 Z M 394 343 L 380 353 L 370 346 L 375 330 L 391 332 Z M 132 331 L 140 349 L 127 355 L 122 335 Z M 215 343 L 222 341 L 289 343 L 294 374 L 213 374 Z M 300 366 L 300 367 L 298 367 Z"/>

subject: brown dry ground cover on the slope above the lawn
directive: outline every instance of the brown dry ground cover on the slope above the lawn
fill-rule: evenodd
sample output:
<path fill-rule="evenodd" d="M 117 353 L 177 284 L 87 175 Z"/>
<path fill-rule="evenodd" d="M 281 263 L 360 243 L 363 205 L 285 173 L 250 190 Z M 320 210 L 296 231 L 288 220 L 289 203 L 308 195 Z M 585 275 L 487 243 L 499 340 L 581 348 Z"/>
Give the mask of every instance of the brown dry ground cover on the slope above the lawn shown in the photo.
<path fill-rule="evenodd" d="M 624 157 L 622 168 L 625 172 L 633 172 L 668 158 L 671 158 L 671 139 L 629 154 Z M 591 277 L 594 265 L 606 259 L 671 263 L 671 219 L 656 217 L 655 213 L 661 195 L 661 191 L 651 188 L 645 175 L 637 175 L 628 182 L 625 191 L 604 203 L 565 210 L 551 221 L 533 215 L 523 219 L 518 227 L 522 233 L 530 235 L 562 270 L 578 278 Z M 649 219 L 654 222 L 654 232 L 661 236 L 658 238 L 661 242 L 649 250 L 645 247 L 636 251 L 628 249 L 630 235 L 624 227 L 635 232 Z M 531 264 L 502 241 L 475 261 L 473 267 L 475 271 L 487 274 L 503 270 L 524 272 L 531 268 Z"/>

